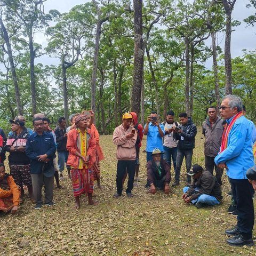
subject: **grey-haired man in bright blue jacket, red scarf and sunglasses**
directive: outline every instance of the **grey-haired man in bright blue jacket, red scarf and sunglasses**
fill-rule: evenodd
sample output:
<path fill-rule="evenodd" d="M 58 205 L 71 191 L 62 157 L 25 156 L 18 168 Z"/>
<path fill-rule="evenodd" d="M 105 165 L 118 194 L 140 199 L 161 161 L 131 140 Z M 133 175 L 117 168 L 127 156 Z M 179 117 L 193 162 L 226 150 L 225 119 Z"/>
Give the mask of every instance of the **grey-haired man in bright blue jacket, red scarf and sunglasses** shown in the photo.
<path fill-rule="evenodd" d="M 246 178 L 246 171 L 254 165 L 252 153 L 252 126 L 244 117 L 242 101 L 235 95 L 223 98 L 220 114 L 227 125 L 222 135 L 219 154 L 215 164 L 226 168 L 231 183 L 232 193 L 237 203 L 237 225 L 226 234 L 234 236 L 227 239 L 233 246 L 252 246 L 252 229 L 254 225 L 254 208 L 252 185 Z"/>

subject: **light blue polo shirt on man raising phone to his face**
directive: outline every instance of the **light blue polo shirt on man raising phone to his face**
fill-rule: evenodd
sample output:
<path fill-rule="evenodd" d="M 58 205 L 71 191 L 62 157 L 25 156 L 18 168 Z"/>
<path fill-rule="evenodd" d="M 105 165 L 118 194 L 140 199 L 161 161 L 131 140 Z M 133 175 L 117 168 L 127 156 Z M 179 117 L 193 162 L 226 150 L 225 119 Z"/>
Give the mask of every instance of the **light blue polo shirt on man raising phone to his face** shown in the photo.
<path fill-rule="evenodd" d="M 163 124 L 159 124 L 161 130 L 164 133 L 164 126 Z M 146 124 L 144 126 L 144 129 Z M 155 148 L 159 148 L 162 152 L 164 151 L 163 148 L 163 137 L 159 134 L 157 125 L 153 125 L 151 122 L 148 124 L 148 134 L 147 134 L 147 152 L 153 152 Z"/>

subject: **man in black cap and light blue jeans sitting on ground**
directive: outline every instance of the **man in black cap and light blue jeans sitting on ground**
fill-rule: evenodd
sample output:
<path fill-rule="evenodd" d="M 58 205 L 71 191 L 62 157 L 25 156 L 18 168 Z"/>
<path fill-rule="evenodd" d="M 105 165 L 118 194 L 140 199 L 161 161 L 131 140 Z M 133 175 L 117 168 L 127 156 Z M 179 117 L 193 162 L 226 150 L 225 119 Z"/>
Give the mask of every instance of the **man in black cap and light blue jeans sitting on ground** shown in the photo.
<path fill-rule="evenodd" d="M 190 187 L 183 188 L 182 198 L 186 203 L 193 203 L 198 209 L 206 205 L 218 205 L 222 199 L 221 187 L 217 179 L 203 167 L 194 164 L 188 175 L 193 177 Z"/>

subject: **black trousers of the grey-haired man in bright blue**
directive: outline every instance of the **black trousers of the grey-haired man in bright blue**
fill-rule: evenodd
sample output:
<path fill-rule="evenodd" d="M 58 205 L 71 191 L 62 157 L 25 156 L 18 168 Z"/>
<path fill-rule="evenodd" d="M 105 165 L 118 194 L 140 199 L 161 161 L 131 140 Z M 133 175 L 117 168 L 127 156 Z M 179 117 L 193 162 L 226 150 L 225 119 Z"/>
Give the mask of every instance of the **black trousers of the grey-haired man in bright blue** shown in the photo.
<path fill-rule="evenodd" d="M 254 225 L 254 208 L 252 201 L 252 185 L 247 179 L 229 179 L 234 199 L 237 203 L 237 229 L 245 238 L 252 238 Z"/>

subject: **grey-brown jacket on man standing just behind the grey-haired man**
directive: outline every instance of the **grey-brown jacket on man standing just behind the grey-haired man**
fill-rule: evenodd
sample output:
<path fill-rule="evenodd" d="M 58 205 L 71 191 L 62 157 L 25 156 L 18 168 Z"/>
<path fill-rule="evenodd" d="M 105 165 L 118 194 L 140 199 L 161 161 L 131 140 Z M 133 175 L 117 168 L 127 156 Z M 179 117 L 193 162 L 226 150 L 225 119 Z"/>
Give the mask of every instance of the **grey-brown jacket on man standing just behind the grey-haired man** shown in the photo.
<path fill-rule="evenodd" d="M 209 117 L 203 123 L 204 155 L 215 157 L 220 151 L 221 138 L 223 133 L 222 119 L 218 116 L 217 120 L 210 125 Z"/>

